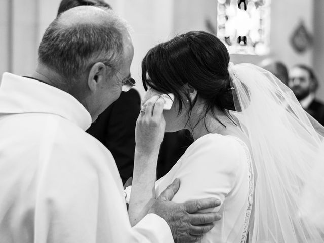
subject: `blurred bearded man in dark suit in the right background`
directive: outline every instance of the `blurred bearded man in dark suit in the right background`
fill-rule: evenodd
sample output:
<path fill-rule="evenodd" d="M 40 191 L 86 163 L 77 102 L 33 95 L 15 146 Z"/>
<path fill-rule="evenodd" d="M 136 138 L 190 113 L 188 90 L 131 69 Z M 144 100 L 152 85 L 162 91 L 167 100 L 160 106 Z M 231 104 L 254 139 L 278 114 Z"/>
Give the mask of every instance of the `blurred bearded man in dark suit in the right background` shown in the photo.
<path fill-rule="evenodd" d="M 297 64 L 289 70 L 289 88 L 292 89 L 301 106 L 321 125 L 324 125 L 324 104 L 315 99 L 318 80 L 314 71 L 303 64 Z"/>

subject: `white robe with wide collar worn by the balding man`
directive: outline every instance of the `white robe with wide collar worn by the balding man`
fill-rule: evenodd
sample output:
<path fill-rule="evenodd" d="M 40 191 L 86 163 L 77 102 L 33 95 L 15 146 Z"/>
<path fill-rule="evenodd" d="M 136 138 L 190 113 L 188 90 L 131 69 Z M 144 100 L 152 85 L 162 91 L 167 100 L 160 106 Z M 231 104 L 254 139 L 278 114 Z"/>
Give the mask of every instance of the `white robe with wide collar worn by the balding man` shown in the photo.
<path fill-rule="evenodd" d="M 88 111 L 50 85 L 5 73 L 0 86 L 0 242 L 173 242 L 146 215 L 131 228 L 111 153 Z"/>

